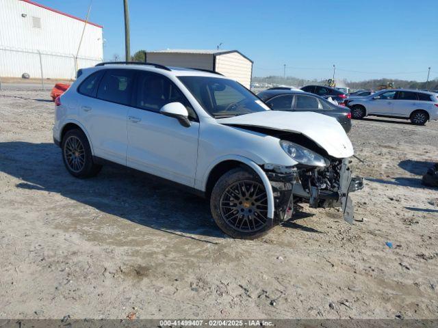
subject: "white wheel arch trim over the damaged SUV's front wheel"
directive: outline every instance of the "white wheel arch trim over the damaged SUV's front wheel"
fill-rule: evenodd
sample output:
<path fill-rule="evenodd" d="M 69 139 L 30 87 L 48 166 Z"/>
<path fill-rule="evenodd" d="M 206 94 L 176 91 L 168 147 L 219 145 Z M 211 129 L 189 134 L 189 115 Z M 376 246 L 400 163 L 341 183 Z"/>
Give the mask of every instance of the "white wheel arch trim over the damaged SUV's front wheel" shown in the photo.
<path fill-rule="evenodd" d="M 268 219 L 273 220 L 274 219 L 274 210 L 275 210 L 275 208 L 274 208 L 274 193 L 272 192 L 272 186 L 271 186 L 271 183 L 268 179 L 268 176 L 266 176 L 266 173 L 263 171 L 263 169 L 261 169 L 261 167 L 259 167 L 259 165 L 257 165 L 257 163 L 255 163 L 254 161 L 252 161 L 244 156 L 229 154 L 226 156 L 222 156 L 219 159 L 216 159 L 216 161 L 214 161 L 214 163 L 212 163 L 209 166 L 206 173 L 204 174 L 203 181 L 201 182 L 202 187 L 203 187 L 203 191 L 205 191 L 207 188 L 207 181 L 208 181 L 208 177 L 210 175 L 211 170 L 216 165 L 218 165 L 219 163 L 224 162 L 224 161 L 238 161 L 238 162 L 244 163 L 244 164 L 248 165 L 251 169 L 253 169 L 255 171 L 255 173 L 257 173 L 261 182 L 263 182 L 263 187 L 265 187 L 266 196 L 268 198 Z"/>

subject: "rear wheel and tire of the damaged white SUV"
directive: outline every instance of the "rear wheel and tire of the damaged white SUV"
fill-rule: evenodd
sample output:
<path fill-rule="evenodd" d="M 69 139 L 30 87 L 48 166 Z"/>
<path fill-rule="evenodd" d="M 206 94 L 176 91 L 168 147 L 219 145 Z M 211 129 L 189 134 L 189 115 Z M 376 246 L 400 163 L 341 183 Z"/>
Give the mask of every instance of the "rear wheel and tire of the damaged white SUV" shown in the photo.
<path fill-rule="evenodd" d="M 90 143 L 83 131 L 68 131 L 62 138 L 61 148 L 62 160 L 72 176 L 90 178 L 100 172 L 102 166 L 93 162 Z"/>

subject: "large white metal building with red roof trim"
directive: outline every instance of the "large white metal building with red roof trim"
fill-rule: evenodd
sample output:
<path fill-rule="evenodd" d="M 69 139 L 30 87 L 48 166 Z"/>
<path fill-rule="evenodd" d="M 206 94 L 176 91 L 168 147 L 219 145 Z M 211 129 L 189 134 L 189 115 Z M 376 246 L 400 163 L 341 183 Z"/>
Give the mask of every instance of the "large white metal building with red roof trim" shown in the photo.
<path fill-rule="evenodd" d="M 102 61 L 101 25 L 30 0 L 0 1 L 0 77 L 73 79 Z"/>

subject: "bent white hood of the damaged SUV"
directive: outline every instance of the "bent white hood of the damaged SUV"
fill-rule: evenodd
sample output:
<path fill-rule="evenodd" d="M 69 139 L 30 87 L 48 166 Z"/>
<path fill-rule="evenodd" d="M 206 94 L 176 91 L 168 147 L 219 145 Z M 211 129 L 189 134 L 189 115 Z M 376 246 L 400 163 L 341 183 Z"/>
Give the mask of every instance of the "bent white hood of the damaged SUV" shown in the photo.
<path fill-rule="evenodd" d="M 354 154 L 351 141 L 341 124 L 335 118 L 311 111 L 260 111 L 231 118 L 220 118 L 217 121 L 220 124 L 257 126 L 301 133 L 337 159 L 344 159 Z"/>

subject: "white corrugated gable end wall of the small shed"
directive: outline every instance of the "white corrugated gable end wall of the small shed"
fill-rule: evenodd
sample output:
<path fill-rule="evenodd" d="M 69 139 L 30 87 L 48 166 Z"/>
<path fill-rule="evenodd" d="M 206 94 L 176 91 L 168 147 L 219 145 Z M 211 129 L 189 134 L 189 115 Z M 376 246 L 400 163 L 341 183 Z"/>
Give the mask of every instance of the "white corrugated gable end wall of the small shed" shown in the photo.
<path fill-rule="evenodd" d="M 239 81 L 249 89 L 253 63 L 240 55 L 240 53 L 225 53 L 216 56 L 216 72 Z"/>

